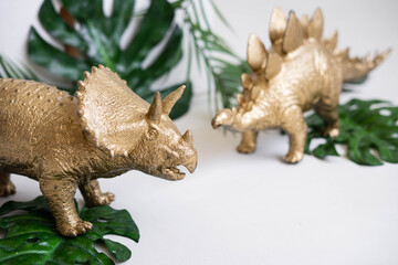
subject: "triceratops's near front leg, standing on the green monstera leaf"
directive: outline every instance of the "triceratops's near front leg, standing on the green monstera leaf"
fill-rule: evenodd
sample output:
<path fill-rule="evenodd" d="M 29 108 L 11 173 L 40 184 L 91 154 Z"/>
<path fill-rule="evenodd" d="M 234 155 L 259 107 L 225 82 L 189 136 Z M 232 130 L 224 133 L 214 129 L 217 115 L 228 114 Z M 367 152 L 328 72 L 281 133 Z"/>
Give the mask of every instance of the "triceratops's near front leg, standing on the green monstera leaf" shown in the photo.
<path fill-rule="evenodd" d="M 93 227 L 92 223 L 81 220 L 77 215 L 74 204 L 76 182 L 44 178 L 41 178 L 39 182 L 40 190 L 55 218 L 56 229 L 62 235 L 74 237 Z"/>

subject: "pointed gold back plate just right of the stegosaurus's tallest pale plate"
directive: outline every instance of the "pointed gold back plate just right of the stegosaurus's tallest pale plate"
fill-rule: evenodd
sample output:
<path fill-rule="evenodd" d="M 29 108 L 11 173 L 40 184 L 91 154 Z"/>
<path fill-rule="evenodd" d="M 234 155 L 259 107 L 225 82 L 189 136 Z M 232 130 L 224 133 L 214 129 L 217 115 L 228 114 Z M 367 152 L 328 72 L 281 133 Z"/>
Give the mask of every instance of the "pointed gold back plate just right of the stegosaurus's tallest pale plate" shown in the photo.
<path fill-rule="evenodd" d="M 285 53 L 293 52 L 303 44 L 304 35 L 301 23 L 293 11 L 289 13 L 287 26 L 283 35 L 282 49 Z"/>

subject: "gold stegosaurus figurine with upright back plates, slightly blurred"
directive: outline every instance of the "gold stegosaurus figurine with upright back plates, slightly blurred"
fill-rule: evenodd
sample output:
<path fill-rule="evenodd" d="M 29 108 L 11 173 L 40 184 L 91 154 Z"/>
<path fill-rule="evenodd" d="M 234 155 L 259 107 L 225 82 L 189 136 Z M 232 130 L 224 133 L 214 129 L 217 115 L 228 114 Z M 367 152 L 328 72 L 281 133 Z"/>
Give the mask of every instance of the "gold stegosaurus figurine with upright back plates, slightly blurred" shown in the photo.
<path fill-rule="evenodd" d="M 224 126 L 242 132 L 239 152 L 255 150 L 259 130 L 281 127 L 290 141 L 285 161 L 301 161 L 307 134 L 303 113 L 308 109 L 324 119 L 325 136 L 338 136 L 343 82 L 364 78 L 389 51 L 374 59 L 350 59 L 348 49 L 336 49 L 337 32 L 328 40 L 322 36 L 323 23 L 320 9 L 311 20 L 307 15 L 298 20 L 293 11 L 286 19 L 275 8 L 270 22 L 272 47 L 266 51 L 256 35 L 250 35 L 248 63 L 253 72 L 241 76 L 239 108 L 219 110 L 212 119 L 213 128 Z"/>

